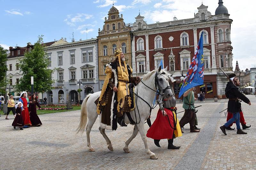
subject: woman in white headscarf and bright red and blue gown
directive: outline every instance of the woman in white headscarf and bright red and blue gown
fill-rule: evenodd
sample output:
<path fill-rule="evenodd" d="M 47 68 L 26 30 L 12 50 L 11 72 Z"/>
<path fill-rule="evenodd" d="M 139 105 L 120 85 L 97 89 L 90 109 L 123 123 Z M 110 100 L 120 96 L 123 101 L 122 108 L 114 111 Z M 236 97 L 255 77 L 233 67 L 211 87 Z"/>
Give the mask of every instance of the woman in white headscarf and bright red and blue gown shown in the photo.
<path fill-rule="evenodd" d="M 22 119 L 23 119 L 23 122 L 24 122 L 24 126 L 23 126 L 24 128 L 28 128 L 28 126 L 31 125 L 30 118 L 29 118 L 29 112 L 28 112 L 28 104 L 32 103 L 32 102 L 27 101 L 26 94 L 27 94 L 27 92 L 23 91 L 21 93 L 20 99 L 19 99 L 19 102 L 21 102 L 23 104 L 23 109 L 24 109 L 21 112 Z"/>

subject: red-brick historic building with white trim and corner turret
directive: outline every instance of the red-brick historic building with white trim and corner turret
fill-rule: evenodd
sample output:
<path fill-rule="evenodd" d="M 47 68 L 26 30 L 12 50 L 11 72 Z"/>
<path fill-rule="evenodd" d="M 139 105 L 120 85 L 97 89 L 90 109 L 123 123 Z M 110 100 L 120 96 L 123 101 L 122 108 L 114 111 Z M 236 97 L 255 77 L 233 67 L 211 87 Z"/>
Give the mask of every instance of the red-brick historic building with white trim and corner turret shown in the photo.
<path fill-rule="evenodd" d="M 132 25 L 132 69 L 143 75 L 159 67 L 163 60 L 170 74 L 177 75 L 175 94 L 179 93 L 180 76 L 186 74 L 194 56 L 200 35 L 204 44 L 204 85 L 196 87 L 196 92 L 205 92 L 206 98 L 225 98 L 227 78 L 219 67 L 232 73 L 232 46 L 228 10 L 219 0 L 215 15 L 208 6 L 198 7 L 194 18 L 147 24 L 138 15 Z"/>

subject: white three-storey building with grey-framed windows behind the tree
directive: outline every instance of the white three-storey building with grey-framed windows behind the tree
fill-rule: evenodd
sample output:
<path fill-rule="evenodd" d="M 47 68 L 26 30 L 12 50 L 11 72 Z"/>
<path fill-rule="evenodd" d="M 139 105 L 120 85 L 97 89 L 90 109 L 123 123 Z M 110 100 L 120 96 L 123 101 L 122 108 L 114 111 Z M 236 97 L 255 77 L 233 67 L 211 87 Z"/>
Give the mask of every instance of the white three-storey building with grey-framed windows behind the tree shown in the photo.
<path fill-rule="evenodd" d="M 55 83 L 52 90 L 44 95 L 47 103 L 64 104 L 67 101 L 76 103 L 89 93 L 99 91 L 98 78 L 98 40 L 87 39 L 76 42 L 66 42 L 60 39 L 45 48 L 50 61 L 49 69 L 56 69 L 52 74 Z"/>

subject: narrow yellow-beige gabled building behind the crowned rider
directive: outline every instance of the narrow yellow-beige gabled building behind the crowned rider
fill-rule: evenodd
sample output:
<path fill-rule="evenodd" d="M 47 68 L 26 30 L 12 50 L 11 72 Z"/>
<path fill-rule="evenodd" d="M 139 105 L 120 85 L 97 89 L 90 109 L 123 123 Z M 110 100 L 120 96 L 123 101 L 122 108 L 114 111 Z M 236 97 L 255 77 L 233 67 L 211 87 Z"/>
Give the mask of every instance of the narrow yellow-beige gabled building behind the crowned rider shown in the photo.
<path fill-rule="evenodd" d="M 114 51 L 117 48 L 122 48 L 126 63 L 132 66 L 130 31 L 131 28 L 124 23 L 123 14 L 120 17 L 119 11 L 112 6 L 108 11 L 108 19 L 105 17 L 102 30 L 99 28 L 97 37 L 100 89 L 105 79 L 106 64 L 115 58 Z"/>

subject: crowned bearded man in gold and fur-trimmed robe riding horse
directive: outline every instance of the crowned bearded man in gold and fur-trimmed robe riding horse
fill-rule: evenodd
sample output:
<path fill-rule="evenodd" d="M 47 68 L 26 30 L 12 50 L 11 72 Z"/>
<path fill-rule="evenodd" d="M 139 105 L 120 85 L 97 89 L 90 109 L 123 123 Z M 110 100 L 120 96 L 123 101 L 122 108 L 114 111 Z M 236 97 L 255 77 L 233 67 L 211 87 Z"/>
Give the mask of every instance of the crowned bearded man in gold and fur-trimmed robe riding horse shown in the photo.
<path fill-rule="evenodd" d="M 140 82 L 140 76 L 132 77 L 132 68 L 125 63 L 121 49 L 115 50 L 115 57 L 107 64 L 100 97 L 95 101 L 97 113 L 101 113 L 100 127 L 109 130 L 116 130 L 116 120 L 121 126 L 127 126 L 122 121 L 123 114 L 134 109 L 131 108 L 132 98 L 128 86 Z"/>

